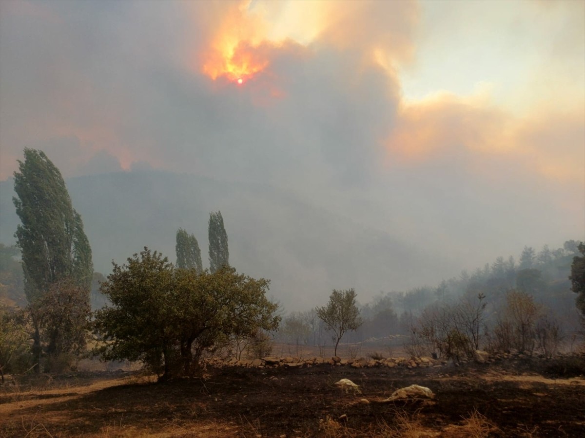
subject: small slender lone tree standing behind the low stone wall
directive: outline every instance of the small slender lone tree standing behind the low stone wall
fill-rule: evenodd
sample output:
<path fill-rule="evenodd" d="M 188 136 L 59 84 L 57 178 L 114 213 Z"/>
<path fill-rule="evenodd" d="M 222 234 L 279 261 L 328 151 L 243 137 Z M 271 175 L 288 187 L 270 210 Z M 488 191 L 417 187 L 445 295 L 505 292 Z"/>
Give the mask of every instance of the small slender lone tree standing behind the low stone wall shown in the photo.
<path fill-rule="evenodd" d="M 356 291 L 336 290 L 329 296 L 329 303 L 324 307 L 316 307 L 315 311 L 321 321 L 325 322 L 326 330 L 333 331 L 335 342 L 335 356 L 339 341 L 347 331 L 357 330 L 362 325 L 360 310 L 356 304 Z"/>

